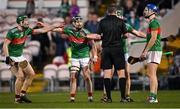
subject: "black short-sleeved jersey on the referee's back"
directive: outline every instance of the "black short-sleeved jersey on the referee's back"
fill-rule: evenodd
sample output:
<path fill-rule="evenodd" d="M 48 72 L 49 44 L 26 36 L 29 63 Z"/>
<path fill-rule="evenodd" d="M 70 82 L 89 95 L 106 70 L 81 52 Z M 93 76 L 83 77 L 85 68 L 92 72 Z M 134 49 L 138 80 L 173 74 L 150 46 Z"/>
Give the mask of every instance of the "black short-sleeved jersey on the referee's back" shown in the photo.
<path fill-rule="evenodd" d="M 102 48 L 122 48 L 122 34 L 127 33 L 125 23 L 115 15 L 107 15 L 98 26 L 98 34 L 102 34 Z"/>

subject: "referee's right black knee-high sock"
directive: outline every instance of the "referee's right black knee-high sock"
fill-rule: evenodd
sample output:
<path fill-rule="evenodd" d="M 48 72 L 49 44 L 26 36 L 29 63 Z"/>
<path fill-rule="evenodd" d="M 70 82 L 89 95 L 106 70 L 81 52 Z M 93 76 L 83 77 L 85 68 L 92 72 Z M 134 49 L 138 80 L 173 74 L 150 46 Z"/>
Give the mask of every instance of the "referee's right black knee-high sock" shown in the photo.
<path fill-rule="evenodd" d="M 121 91 L 121 98 L 125 99 L 126 78 L 119 78 L 119 88 Z"/>

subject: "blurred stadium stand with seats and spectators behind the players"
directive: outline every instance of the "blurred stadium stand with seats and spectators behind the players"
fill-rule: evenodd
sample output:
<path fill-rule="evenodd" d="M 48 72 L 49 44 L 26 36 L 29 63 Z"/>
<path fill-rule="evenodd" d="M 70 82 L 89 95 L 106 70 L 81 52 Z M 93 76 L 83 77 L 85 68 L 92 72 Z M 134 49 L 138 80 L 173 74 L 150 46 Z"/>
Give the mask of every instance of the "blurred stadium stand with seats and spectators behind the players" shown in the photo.
<path fill-rule="evenodd" d="M 155 3 L 160 8 L 158 19 L 162 28 L 163 52 L 173 52 L 163 55 L 158 68 L 160 90 L 180 89 L 180 2 L 179 0 L 0 0 L 0 52 L 2 53 L 3 40 L 9 29 L 15 27 L 16 17 L 26 14 L 30 25 L 42 28 L 36 22 L 41 21 L 52 25 L 64 22 L 71 26 L 71 18 L 76 15 L 83 17 L 84 28 L 96 33 L 98 22 L 106 15 L 109 4 L 117 4 L 123 9 L 126 22 L 136 30 L 146 32 L 148 22 L 142 12 L 147 3 Z M 70 47 L 62 34 L 48 32 L 29 37 L 23 55 L 32 64 L 36 78 L 29 92 L 55 92 L 69 90 L 69 63 Z M 140 56 L 144 43 L 136 43 L 143 39 L 129 34 L 129 53 Z M 99 42 L 97 42 L 99 43 Z M 1 54 L 0 59 L 5 57 Z M 0 92 L 14 91 L 15 77 L 9 67 L 0 63 Z M 103 76 L 98 62 L 91 64 L 91 75 L 94 90 L 103 89 Z M 131 90 L 147 90 L 149 83 L 146 77 L 146 63 L 137 63 L 131 66 Z M 84 80 L 79 73 L 78 90 L 85 90 Z M 116 74 L 112 88 L 117 90 Z"/>

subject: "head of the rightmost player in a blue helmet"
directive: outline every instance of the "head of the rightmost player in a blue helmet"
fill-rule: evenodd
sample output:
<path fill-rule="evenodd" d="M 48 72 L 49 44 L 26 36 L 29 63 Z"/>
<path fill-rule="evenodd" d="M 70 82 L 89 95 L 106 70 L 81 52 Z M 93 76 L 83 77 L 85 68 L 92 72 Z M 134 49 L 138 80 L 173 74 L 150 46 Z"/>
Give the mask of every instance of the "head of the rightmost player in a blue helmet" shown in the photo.
<path fill-rule="evenodd" d="M 159 9 L 156 5 L 154 4 L 147 4 L 147 6 L 144 9 L 143 15 L 145 18 L 149 18 L 153 14 L 158 14 Z"/>

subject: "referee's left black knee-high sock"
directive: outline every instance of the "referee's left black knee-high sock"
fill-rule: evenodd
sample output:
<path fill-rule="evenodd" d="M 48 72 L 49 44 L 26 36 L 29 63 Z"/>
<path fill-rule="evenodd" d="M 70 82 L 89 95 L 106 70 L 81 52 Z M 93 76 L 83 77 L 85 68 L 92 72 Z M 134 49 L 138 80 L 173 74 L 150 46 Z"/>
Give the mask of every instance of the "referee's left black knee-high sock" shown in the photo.
<path fill-rule="evenodd" d="M 106 89 L 106 95 L 108 99 L 111 99 L 111 79 L 104 78 L 104 86 Z"/>

